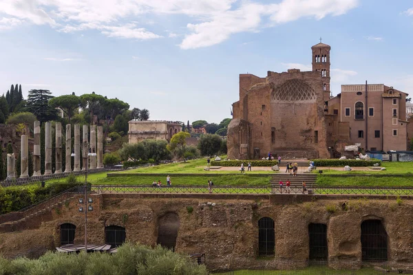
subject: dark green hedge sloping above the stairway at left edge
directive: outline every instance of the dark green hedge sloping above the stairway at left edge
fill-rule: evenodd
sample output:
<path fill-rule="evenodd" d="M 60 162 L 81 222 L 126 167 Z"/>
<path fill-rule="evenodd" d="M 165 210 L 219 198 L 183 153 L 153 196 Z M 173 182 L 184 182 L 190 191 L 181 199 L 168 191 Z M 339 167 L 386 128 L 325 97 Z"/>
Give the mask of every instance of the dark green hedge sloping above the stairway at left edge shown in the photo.
<path fill-rule="evenodd" d="M 45 187 L 39 183 L 25 189 L 21 186 L 0 188 L 0 214 L 19 211 L 75 186 L 83 186 L 83 183 L 56 182 Z"/>

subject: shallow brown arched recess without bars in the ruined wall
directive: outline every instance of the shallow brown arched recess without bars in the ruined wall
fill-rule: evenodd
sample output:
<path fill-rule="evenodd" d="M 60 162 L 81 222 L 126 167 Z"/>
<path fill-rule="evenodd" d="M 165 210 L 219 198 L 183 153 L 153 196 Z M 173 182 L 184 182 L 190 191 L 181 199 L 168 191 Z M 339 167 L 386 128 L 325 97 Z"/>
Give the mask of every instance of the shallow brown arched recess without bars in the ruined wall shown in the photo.
<path fill-rule="evenodd" d="M 158 240 L 162 247 L 175 251 L 176 238 L 180 227 L 179 216 L 169 212 L 158 219 Z"/>

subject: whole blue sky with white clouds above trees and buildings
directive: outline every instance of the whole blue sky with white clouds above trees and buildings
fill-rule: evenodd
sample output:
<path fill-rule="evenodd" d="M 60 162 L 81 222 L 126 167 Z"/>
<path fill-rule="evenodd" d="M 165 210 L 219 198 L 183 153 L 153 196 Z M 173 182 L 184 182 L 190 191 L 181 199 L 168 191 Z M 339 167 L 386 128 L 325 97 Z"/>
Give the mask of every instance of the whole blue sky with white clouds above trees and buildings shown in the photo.
<path fill-rule="evenodd" d="M 239 74 L 311 69 L 331 46 L 331 90 L 413 95 L 411 0 L 0 0 L 0 94 L 96 94 L 151 120 L 231 118 Z"/>

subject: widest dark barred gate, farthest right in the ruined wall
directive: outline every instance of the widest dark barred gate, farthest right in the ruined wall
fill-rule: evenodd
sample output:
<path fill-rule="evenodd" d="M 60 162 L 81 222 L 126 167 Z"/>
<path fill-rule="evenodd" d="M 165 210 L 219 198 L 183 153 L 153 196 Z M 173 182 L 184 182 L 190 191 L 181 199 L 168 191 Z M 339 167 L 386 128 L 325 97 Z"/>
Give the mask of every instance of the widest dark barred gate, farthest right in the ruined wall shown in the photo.
<path fill-rule="evenodd" d="M 361 260 L 383 262 L 388 260 L 388 235 L 378 219 L 361 223 Z"/>

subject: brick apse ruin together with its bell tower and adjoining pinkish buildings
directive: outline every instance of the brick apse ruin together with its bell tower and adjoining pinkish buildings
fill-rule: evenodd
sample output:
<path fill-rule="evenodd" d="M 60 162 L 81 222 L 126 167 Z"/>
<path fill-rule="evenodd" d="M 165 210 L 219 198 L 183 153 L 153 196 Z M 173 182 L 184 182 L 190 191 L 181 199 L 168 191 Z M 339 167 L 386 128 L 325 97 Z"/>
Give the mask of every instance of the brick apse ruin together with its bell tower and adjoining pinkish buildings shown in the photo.
<path fill-rule="evenodd" d="M 406 150 L 407 94 L 383 84 L 342 85 L 332 98 L 330 46 L 318 43 L 311 50 L 312 72 L 240 74 L 240 100 L 233 103 L 228 127 L 229 158 L 259 159 L 268 152 L 337 157 L 355 143 L 364 151 Z"/>

